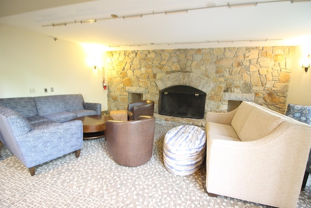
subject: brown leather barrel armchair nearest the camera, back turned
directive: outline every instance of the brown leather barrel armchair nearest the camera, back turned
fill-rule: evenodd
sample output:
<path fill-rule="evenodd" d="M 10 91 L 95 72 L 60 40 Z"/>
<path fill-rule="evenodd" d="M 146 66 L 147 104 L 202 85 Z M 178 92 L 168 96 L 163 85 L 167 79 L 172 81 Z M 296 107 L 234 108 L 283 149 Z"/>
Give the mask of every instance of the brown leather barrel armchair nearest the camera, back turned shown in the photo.
<path fill-rule="evenodd" d="M 106 122 L 109 154 L 122 166 L 135 167 L 147 163 L 152 156 L 155 117 L 139 116 L 135 121 Z"/>

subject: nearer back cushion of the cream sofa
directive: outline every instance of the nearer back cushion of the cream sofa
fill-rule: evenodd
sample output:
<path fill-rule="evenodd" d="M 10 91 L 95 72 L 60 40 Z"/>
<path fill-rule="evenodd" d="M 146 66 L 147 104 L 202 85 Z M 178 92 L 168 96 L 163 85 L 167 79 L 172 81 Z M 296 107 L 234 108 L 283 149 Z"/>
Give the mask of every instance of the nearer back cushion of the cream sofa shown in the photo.
<path fill-rule="evenodd" d="M 265 111 L 263 108 L 253 107 L 239 134 L 239 138 L 242 141 L 260 139 L 273 132 L 285 120 L 287 119 Z"/>

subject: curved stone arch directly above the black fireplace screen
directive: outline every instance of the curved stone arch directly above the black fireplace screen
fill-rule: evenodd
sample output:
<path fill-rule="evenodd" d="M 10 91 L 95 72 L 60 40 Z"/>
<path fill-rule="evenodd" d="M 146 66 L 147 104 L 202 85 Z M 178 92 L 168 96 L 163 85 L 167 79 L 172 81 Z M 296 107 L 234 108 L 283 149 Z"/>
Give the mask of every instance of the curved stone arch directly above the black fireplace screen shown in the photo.
<path fill-rule="evenodd" d="M 208 94 L 215 85 L 205 76 L 187 72 L 167 74 L 161 79 L 156 80 L 155 83 L 160 90 L 173 85 L 187 85 L 202 90 L 206 94 Z"/>

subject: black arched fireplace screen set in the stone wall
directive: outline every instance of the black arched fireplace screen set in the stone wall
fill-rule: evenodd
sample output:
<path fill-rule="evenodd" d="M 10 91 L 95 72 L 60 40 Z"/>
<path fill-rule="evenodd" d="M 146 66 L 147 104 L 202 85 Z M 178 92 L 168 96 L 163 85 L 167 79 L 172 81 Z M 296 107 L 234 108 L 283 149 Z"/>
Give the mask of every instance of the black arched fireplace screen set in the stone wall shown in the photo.
<path fill-rule="evenodd" d="M 194 87 L 175 85 L 160 90 L 159 114 L 203 118 L 206 93 Z"/>

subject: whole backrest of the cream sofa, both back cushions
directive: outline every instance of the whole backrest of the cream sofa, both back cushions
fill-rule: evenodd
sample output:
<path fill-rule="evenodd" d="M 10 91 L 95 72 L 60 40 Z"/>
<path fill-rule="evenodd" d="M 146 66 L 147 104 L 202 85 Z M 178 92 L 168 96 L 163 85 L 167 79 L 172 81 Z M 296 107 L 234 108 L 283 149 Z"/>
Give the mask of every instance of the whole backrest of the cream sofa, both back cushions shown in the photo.
<path fill-rule="evenodd" d="M 243 105 L 242 105 L 243 104 Z M 273 132 L 281 123 L 290 120 L 254 103 L 242 102 L 232 119 L 232 127 L 241 141 L 254 141 Z"/>

